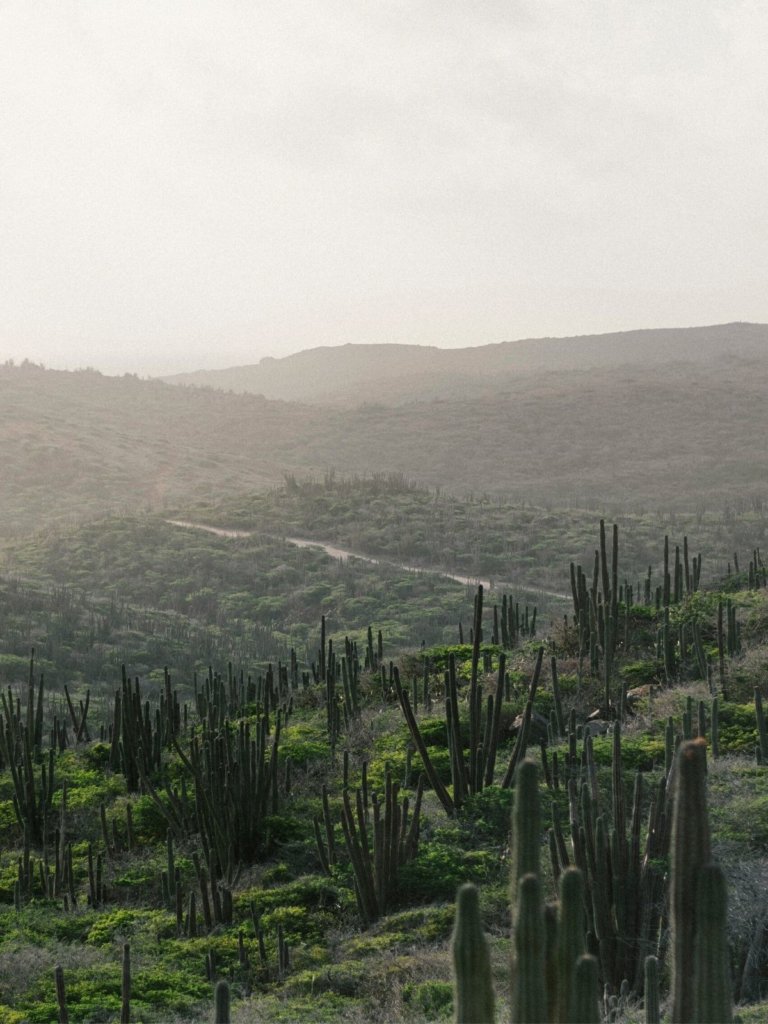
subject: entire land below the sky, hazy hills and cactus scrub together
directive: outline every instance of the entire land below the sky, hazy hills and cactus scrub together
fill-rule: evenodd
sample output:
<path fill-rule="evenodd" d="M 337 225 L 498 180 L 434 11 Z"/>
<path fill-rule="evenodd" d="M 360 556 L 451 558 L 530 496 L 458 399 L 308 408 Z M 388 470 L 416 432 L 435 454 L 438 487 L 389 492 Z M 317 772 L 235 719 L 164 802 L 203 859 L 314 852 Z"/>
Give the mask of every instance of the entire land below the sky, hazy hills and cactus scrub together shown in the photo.
<path fill-rule="evenodd" d="M 0 1024 L 764 1020 L 765 335 L 0 369 Z"/>

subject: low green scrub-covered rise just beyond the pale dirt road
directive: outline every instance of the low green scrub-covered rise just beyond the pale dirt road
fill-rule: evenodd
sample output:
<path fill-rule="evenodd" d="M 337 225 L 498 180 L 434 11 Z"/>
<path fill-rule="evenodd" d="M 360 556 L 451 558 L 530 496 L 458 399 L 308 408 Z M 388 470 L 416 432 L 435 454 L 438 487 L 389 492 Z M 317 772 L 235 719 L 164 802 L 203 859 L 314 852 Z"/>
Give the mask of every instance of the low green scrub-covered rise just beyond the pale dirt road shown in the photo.
<path fill-rule="evenodd" d="M 284 486 L 201 504 L 189 514 L 202 523 L 311 538 L 383 559 L 490 578 L 500 586 L 537 593 L 553 611 L 562 609 L 548 598 L 568 589 L 562 566 L 589 564 L 595 548 L 592 512 L 487 496 L 460 499 L 391 474 L 347 480 L 335 474 L 323 480 L 289 477 Z M 695 538 L 705 577 L 712 580 L 727 574 L 734 552 L 749 562 L 752 549 L 764 543 L 768 507 L 760 500 L 731 499 L 717 511 L 624 513 L 615 522 L 624 538 L 622 568 L 630 582 L 649 565 L 654 571 L 660 567 L 665 535 L 680 546 L 684 537 Z"/>

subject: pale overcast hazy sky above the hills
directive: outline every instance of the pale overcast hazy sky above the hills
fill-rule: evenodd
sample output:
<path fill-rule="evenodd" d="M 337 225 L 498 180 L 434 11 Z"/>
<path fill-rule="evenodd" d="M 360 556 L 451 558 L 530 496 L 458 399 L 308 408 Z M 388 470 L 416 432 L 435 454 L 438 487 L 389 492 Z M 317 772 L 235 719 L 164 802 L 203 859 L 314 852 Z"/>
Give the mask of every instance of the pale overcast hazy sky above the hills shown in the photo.
<path fill-rule="evenodd" d="M 768 5 L 0 3 L 0 357 L 768 321 Z"/>

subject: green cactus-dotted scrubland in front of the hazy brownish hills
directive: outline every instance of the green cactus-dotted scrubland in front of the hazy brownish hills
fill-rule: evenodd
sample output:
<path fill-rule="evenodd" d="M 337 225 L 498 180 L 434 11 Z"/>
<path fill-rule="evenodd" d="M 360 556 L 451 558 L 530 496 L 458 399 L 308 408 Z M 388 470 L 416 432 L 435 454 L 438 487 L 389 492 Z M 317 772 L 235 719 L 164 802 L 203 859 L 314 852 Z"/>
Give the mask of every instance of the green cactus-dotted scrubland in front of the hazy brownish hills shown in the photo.
<path fill-rule="evenodd" d="M 221 979 L 236 1020 L 450 1019 L 467 882 L 507 1019 L 509 862 L 524 831 L 510 838 L 510 810 L 527 753 L 542 764 L 543 898 L 583 869 L 580 941 L 608 986 L 605 1019 L 639 1022 L 645 955 L 663 1005 L 672 963 L 662 786 L 676 744 L 697 734 L 733 992 L 744 1022 L 764 1019 L 761 508 L 628 517 L 614 541 L 585 514 L 329 478 L 206 511 L 254 532 L 124 515 L 7 555 L 0 1020 L 58 1019 L 56 966 L 73 1021 L 209 1020 Z M 514 591 L 473 602 L 436 573 L 285 541 L 301 534 L 523 577 L 567 602 L 534 636 Z M 518 572 L 523 537 L 536 551 Z"/>

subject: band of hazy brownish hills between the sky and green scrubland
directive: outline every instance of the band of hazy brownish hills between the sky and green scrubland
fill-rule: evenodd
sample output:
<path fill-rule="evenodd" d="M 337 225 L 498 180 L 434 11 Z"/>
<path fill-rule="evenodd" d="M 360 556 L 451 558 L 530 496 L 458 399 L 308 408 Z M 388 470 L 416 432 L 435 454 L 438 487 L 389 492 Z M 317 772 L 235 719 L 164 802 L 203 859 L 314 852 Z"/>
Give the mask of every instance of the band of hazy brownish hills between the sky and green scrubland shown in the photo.
<path fill-rule="evenodd" d="M 338 389 L 324 407 L 0 368 L 0 535 L 106 510 L 179 509 L 330 470 L 607 511 L 722 509 L 734 495 L 766 495 L 768 327 L 460 352 L 414 346 L 408 357 L 422 369 L 409 371 L 402 391 L 387 383 L 400 353 L 392 348 L 375 349 L 375 372 L 360 358 L 365 346 L 276 364 L 304 366 L 315 398 L 321 387 L 332 397 Z M 527 361 L 513 365 L 514 352 Z M 357 361 L 344 364 L 350 353 Z M 453 361 L 441 376 L 429 361 L 443 356 Z M 335 359 L 346 378 L 333 373 Z M 505 371 L 513 366 L 519 372 Z"/>

